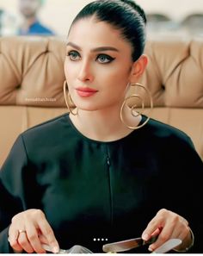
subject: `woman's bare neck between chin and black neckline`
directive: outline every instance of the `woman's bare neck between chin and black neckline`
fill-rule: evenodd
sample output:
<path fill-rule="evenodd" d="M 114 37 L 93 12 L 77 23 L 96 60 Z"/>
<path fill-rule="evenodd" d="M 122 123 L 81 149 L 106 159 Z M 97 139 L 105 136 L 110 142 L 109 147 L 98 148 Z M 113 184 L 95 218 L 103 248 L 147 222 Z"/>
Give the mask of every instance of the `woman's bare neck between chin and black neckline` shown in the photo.
<path fill-rule="evenodd" d="M 127 122 L 137 126 L 141 117 L 133 117 L 131 110 L 126 107 L 124 115 Z M 70 114 L 71 122 L 84 136 L 92 140 L 114 141 L 119 140 L 132 132 L 120 120 L 120 109 L 102 109 L 86 111 L 79 109 L 77 116 Z"/>

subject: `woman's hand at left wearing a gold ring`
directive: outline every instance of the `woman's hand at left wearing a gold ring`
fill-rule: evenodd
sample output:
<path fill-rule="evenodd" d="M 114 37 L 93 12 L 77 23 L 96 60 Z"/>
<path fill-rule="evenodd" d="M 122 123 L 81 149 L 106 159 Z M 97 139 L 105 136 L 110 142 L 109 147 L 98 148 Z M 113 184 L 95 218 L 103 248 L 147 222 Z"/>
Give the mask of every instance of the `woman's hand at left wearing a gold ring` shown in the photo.
<path fill-rule="evenodd" d="M 15 253 L 46 253 L 41 243 L 50 246 L 52 253 L 58 253 L 58 241 L 40 209 L 28 209 L 12 218 L 9 244 Z"/>

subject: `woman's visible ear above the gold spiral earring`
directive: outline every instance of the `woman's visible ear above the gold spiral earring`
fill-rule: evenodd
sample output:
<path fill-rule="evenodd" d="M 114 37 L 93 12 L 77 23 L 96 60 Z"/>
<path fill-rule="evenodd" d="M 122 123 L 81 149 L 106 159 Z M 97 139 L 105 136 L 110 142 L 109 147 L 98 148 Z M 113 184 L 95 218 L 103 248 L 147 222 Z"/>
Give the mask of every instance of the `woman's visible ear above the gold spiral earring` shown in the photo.
<path fill-rule="evenodd" d="M 132 71 L 130 75 L 130 82 L 131 83 L 137 83 L 138 78 L 142 76 L 142 74 L 145 72 L 145 68 L 148 63 L 148 58 L 145 54 L 142 54 L 138 60 L 136 60 L 132 65 Z"/>

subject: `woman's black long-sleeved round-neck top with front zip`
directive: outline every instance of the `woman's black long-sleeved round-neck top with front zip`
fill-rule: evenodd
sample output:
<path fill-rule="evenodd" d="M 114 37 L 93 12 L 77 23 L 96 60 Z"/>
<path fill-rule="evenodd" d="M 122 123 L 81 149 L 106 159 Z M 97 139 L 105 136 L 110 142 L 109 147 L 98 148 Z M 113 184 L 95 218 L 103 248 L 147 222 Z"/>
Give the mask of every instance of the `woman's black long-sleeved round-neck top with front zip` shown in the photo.
<path fill-rule="evenodd" d="M 11 252 L 9 223 L 26 209 L 43 210 L 60 247 L 102 253 L 105 243 L 140 236 L 162 208 L 188 220 L 190 252 L 203 253 L 202 173 L 188 136 L 162 122 L 101 142 L 58 116 L 20 134 L 2 167 L 0 253 Z"/>

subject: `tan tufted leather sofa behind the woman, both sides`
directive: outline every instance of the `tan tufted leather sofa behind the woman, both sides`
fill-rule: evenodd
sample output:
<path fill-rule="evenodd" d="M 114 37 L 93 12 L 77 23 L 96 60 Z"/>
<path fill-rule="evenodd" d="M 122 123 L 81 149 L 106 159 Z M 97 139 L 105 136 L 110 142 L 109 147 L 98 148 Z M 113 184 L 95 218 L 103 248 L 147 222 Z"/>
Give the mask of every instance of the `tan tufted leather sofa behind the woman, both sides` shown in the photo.
<path fill-rule="evenodd" d="M 63 97 L 65 41 L 0 38 L 0 166 L 18 134 L 67 112 Z M 185 131 L 203 159 L 203 38 L 148 41 L 151 116 Z"/>

